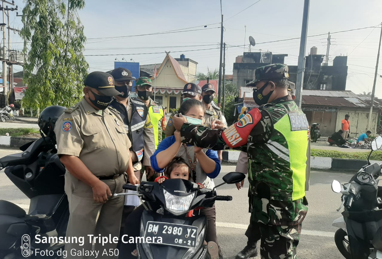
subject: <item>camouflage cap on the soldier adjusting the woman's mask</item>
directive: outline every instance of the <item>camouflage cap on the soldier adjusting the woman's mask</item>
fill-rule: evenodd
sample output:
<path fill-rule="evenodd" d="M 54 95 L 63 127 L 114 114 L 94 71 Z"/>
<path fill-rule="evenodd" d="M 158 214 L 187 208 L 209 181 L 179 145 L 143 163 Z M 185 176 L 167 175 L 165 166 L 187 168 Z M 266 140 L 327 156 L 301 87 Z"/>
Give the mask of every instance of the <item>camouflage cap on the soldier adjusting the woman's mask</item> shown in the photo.
<path fill-rule="evenodd" d="M 261 80 L 288 79 L 288 66 L 286 64 L 270 64 L 255 70 L 255 79 L 246 86 L 256 86 Z"/>

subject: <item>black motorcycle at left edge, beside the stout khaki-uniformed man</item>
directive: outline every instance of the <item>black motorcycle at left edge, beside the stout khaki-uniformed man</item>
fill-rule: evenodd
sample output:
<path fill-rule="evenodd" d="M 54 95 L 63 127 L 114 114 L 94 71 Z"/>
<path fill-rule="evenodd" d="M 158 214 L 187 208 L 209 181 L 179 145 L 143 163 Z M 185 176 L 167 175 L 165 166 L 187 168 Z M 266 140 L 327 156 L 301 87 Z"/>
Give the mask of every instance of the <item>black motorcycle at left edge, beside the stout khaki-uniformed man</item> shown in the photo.
<path fill-rule="evenodd" d="M 20 150 L 23 152 L 0 158 L 0 169 L 5 168 L 6 176 L 30 199 L 29 212 L 0 200 L 0 259 L 39 258 L 33 254 L 37 249 L 47 250 L 45 257 L 55 258 L 56 251 L 65 245 L 58 237 L 65 237 L 69 219 L 65 167 L 49 137 L 25 144 Z"/>

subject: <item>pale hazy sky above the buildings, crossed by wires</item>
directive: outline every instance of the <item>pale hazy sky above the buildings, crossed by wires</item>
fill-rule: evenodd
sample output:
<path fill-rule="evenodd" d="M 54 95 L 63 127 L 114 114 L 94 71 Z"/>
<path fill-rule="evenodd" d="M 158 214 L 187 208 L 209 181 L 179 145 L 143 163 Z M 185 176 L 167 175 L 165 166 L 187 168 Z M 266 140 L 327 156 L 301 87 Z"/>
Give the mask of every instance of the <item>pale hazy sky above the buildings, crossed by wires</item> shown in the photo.
<path fill-rule="evenodd" d="M 21 0 L 15 2 L 19 5 L 21 13 L 24 4 Z M 256 40 L 256 46 L 252 47 L 252 51 L 261 49 L 273 53 L 285 53 L 288 54 L 285 63 L 297 65 L 299 39 L 261 43 L 300 37 L 304 1 L 261 0 L 244 10 L 255 2 L 257 0 L 222 0 L 224 41 L 228 45 L 244 45 L 244 41 L 248 44 L 248 37 L 251 35 Z M 239 13 L 240 11 L 242 12 Z M 308 35 L 377 26 L 382 21 L 381 11 L 380 0 L 311 1 Z M 112 69 L 115 58 L 120 61 L 122 58 L 128 61 L 132 58 L 140 64 L 155 62 L 160 64 L 165 57 L 164 51 L 171 51 L 173 57 L 184 53 L 186 58 L 199 63 L 197 66 L 199 72 L 206 72 L 207 67 L 213 70 L 219 66 L 220 28 L 218 27 L 221 20 L 219 0 L 87 0 L 85 8 L 79 11 L 79 17 L 84 24 L 88 39 L 84 54 L 111 54 L 86 56 L 91 71 Z M 204 28 L 204 25 L 208 26 Z M 22 27 L 21 19 L 12 15 L 11 26 Z M 246 26 L 245 37 L 244 26 Z M 185 28 L 195 31 L 107 38 Z M 379 28 L 332 34 L 329 65 L 335 56 L 348 55 L 346 90 L 357 94 L 372 90 L 379 34 Z M 306 54 L 312 46 L 318 47 L 317 54 L 326 54 L 326 38 L 327 35 L 309 37 Z M 12 44 L 11 48 L 21 50 L 23 45 L 17 34 L 11 34 L 11 42 L 19 42 Z M 248 51 L 248 46 L 245 50 Z M 232 74 L 235 57 L 242 55 L 243 51 L 243 46 L 227 48 L 226 74 Z M 379 73 L 382 75 L 382 64 L 379 67 Z M 17 70 L 21 70 L 21 67 L 15 67 L 15 71 Z M 382 98 L 381 86 L 382 78 L 378 76 L 376 94 L 380 98 Z"/>

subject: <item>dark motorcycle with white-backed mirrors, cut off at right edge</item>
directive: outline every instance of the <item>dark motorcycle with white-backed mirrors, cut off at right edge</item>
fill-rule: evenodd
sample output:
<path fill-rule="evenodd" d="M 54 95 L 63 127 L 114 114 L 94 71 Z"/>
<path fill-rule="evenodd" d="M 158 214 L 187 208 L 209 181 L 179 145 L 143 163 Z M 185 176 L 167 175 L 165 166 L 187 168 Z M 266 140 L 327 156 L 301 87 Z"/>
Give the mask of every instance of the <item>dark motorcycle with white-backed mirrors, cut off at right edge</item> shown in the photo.
<path fill-rule="evenodd" d="M 377 178 L 382 163 L 369 162 L 371 153 L 382 147 L 382 136 L 371 143 L 368 164 L 363 166 L 350 181 L 341 184 L 332 182 L 332 190 L 342 193 L 343 217 L 333 221 L 339 227 L 335 243 L 346 259 L 382 259 L 382 186 Z"/>

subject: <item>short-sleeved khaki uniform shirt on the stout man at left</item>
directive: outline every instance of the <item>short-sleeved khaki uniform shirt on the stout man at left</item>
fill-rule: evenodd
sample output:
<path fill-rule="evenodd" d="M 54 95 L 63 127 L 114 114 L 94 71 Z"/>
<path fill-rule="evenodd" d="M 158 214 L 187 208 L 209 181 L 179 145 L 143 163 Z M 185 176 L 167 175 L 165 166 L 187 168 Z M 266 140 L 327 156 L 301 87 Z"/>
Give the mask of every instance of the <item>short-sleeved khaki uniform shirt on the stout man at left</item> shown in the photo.
<path fill-rule="evenodd" d="M 57 154 L 78 157 L 95 176 L 126 172 L 131 142 L 116 110 L 96 110 L 83 98 L 58 118 L 54 132 Z"/>

